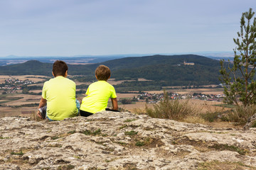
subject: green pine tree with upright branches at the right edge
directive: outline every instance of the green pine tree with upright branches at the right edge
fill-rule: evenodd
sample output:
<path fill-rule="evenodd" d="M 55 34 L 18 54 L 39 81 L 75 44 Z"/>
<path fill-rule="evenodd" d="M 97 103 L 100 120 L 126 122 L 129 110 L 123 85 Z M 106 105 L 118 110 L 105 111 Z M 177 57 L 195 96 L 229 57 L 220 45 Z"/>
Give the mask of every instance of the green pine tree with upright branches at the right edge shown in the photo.
<path fill-rule="evenodd" d="M 220 60 L 220 81 L 224 84 L 225 103 L 250 106 L 256 103 L 256 18 L 255 12 L 242 13 L 238 38 L 234 38 L 233 64 Z"/>

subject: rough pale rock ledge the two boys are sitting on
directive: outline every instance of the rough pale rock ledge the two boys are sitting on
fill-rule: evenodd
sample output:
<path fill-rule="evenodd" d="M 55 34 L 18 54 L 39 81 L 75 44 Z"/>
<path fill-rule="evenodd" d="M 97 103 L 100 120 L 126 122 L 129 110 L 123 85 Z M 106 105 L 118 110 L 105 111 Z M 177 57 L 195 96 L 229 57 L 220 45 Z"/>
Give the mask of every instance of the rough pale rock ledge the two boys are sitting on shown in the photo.
<path fill-rule="evenodd" d="M 37 122 L 0 119 L 0 169 L 256 169 L 256 129 L 104 111 Z"/>

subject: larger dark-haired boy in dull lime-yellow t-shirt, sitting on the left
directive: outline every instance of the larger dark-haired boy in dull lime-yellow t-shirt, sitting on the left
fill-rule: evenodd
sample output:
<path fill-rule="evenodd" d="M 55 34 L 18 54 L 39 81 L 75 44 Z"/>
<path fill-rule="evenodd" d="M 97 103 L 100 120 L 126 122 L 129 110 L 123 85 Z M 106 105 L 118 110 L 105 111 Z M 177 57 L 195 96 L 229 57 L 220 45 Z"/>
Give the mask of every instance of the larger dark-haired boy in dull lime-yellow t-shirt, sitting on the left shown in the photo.
<path fill-rule="evenodd" d="M 49 120 L 75 117 L 78 115 L 75 82 L 67 78 L 68 65 L 60 60 L 55 61 L 52 74 L 55 78 L 43 84 L 38 116 L 43 119 L 46 117 Z"/>

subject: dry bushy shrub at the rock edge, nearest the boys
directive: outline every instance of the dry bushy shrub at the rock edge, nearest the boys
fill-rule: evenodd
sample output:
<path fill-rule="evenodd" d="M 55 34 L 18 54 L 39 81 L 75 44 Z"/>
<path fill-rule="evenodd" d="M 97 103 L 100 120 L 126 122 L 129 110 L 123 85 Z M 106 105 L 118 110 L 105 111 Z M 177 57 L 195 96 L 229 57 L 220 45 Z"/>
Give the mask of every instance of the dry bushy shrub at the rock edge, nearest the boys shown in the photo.
<path fill-rule="evenodd" d="M 170 100 L 164 92 L 164 100 L 153 105 L 153 108 L 146 106 L 146 115 L 152 118 L 166 118 L 183 120 L 189 115 L 194 115 L 196 109 L 188 103 L 188 100 Z"/>

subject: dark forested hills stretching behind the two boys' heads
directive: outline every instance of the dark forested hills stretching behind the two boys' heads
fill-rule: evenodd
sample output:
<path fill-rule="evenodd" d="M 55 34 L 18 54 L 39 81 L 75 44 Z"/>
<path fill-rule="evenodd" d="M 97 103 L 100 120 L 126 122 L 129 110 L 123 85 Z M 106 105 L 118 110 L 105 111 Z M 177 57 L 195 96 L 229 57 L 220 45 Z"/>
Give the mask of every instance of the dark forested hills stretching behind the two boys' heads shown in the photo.
<path fill-rule="evenodd" d="M 193 62 L 185 65 L 183 62 Z M 69 64 L 68 73 L 94 77 L 95 68 L 105 64 L 112 70 L 112 78 L 118 80 L 144 78 L 155 86 L 188 86 L 219 84 L 220 63 L 198 55 L 153 55 L 146 57 L 125 57 L 97 64 Z M 11 75 L 51 75 L 52 63 L 31 60 L 22 64 L 0 67 L 0 74 Z M 139 82 L 138 82 L 139 83 Z"/>

